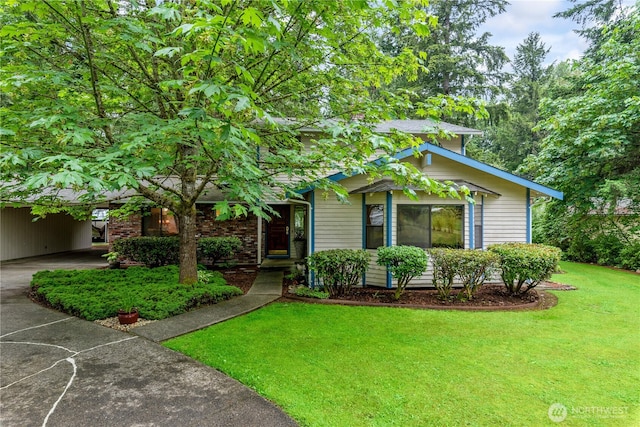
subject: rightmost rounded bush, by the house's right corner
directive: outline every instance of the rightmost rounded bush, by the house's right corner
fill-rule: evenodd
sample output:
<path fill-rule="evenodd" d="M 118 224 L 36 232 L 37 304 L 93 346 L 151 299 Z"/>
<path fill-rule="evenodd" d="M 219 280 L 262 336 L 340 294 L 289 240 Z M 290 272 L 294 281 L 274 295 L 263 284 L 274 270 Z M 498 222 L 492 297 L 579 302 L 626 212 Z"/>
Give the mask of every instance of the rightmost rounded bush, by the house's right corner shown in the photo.
<path fill-rule="evenodd" d="M 514 295 L 526 293 L 549 279 L 561 255 L 560 249 L 553 246 L 527 243 L 501 243 L 489 246 L 489 250 L 500 256 L 500 276 Z"/>

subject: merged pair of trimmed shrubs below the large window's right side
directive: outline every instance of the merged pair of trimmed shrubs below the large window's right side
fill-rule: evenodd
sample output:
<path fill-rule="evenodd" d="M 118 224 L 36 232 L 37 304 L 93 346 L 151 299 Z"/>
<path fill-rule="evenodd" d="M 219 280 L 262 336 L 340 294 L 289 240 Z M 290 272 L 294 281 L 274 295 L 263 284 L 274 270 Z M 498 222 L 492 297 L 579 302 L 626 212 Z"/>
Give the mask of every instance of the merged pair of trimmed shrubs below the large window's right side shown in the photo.
<path fill-rule="evenodd" d="M 459 296 L 472 299 L 497 268 L 500 258 L 497 254 L 475 249 L 431 250 L 433 263 L 433 285 L 442 299 L 448 299 L 456 277 L 462 282 L 463 291 Z"/>

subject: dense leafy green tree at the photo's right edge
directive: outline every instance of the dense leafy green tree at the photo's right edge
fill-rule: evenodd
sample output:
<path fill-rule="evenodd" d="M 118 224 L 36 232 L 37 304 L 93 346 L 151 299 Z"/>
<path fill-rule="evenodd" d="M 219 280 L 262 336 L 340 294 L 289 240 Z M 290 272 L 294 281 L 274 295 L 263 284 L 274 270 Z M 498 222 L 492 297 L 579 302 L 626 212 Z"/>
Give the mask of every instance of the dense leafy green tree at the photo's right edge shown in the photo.
<path fill-rule="evenodd" d="M 575 63 L 553 89 L 559 96 L 542 100 L 539 129 L 547 135 L 526 168 L 565 194 L 545 212 L 553 243 L 565 248 L 569 243 L 560 238 L 589 238 L 594 221 L 627 243 L 640 234 L 638 31 L 637 9 L 605 27 L 597 51 Z"/>

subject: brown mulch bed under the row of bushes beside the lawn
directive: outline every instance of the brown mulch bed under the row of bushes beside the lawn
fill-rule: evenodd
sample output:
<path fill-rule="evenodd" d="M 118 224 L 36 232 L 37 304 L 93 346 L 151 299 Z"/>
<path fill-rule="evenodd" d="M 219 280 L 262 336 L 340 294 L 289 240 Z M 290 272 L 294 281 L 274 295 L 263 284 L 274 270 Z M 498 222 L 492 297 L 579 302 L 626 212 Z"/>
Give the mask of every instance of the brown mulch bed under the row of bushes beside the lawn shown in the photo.
<path fill-rule="evenodd" d="M 538 289 L 539 288 L 539 289 Z M 393 299 L 395 290 L 386 288 L 355 288 L 350 295 L 329 299 L 302 298 L 290 292 L 291 286 L 283 283 L 285 301 L 304 301 L 318 304 L 365 305 L 383 307 L 406 307 L 444 310 L 522 310 L 546 309 L 557 304 L 555 295 L 545 292 L 551 290 L 575 289 L 571 286 L 545 282 L 524 295 L 510 295 L 504 285 L 485 285 L 475 294 L 473 299 L 465 301 L 457 296 L 462 291 L 454 289 L 451 298 L 442 300 L 434 289 L 410 289 L 398 301 Z"/>

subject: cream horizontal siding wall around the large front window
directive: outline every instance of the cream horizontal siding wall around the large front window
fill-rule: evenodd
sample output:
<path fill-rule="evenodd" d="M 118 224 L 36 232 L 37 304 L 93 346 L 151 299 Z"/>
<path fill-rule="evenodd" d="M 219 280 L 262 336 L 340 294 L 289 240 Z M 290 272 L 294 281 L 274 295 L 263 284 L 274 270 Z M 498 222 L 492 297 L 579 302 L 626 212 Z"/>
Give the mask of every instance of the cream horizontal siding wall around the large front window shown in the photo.
<path fill-rule="evenodd" d="M 458 140 L 459 143 L 459 140 Z M 410 158 L 418 168 L 422 168 L 426 175 L 436 179 L 463 179 L 472 182 L 488 190 L 499 193 L 500 196 L 473 195 L 476 200 L 474 209 L 483 209 L 484 217 L 482 243 L 483 248 L 493 243 L 502 242 L 526 242 L 526 203 L 527 189 L 513 184 L 501 178 L 497 178 L 485 172 L 461 165 L 444 157 L 432 154 L 430 165 L 422 166 L 421 159 Z M 341 181 L 347 190 L 351 191 L 363 187 L 369 182 L 364 176 L 346 178 Z M 349 197 L 349 204 L 344 205 L 335 198 L 323 198 L 322 193 L 315 194 L 315 250 L 326 249 L 360 249 L 363 247 L 363 201 L 361 194 L 353 194 Z M 465 248 L 470 247 L 469 227 L 469 203 L 464 199 L 440 198 L 436 195 L 421 194 L 420 200 L 413 201 L 406 197 L 402 191 L 391 192 L 392 211 L 389 212 L 386 202 L 386 193 L 365 195 L 364 204 L 383 204 L 384 209 L 384 234 L 387 235 L 387 218 L 391 214 L 391 244 L 396 244 L 396 218 L 399 204 L 432 204 L 432 205 L 462 205 L 464 209 L 463 234 Z M 476 214 L 475 219 L 480 218 Z M 386 237 L 385 237 L 386 239 Z M 385 240 L 385 244 L 387 244 Z M 372 261 L 366 274 L 368 286 L 386 286 L 387 274 L 384 267 L 378 266 L 375 260 L 375 250 L 369 250 Z M 429 263 L 430 264 L 430 263 Z M 432 267 L 429 265 L 427 272 L 415 278 L 411 287 L 424 287 L 432 285 Z"/>

